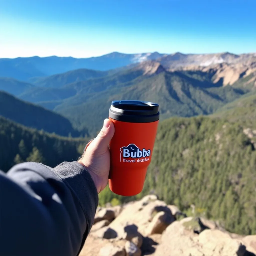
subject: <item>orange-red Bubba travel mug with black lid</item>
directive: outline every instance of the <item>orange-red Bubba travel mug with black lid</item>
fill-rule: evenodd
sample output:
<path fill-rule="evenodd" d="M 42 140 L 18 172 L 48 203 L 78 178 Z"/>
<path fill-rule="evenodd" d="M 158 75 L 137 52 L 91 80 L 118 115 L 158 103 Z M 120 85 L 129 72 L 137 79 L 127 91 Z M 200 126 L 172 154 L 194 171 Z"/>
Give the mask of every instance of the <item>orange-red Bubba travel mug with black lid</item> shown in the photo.
<path fill-rule="evenodd" d="M 151 162 L 159 122 L 159 105 L 145 101 L 112 101 L 109 119 L 115 134 L 109 144 L 109 187 L 122 196 L 139 194 Z"/>

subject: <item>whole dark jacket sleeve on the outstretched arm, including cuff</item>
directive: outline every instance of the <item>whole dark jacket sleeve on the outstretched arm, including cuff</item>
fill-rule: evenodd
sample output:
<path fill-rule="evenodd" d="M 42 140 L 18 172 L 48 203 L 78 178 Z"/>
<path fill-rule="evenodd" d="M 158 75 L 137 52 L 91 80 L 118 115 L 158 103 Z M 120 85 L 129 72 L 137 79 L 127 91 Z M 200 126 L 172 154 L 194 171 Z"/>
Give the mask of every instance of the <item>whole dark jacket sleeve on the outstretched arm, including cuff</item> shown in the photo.
<path fill-rule="evenodd" d="M 0 171 L 0 255 L 78 255 L 97 205 L 93 180 L 78 162 Z"/>

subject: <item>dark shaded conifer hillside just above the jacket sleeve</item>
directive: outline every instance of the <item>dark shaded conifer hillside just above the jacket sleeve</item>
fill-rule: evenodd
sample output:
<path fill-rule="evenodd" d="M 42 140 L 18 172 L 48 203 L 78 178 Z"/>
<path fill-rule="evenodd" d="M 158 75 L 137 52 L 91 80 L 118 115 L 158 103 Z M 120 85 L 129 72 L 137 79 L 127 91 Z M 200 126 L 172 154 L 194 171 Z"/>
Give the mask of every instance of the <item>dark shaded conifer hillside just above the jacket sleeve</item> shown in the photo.
<path fill-rule="evenodd" d="M 76 161 L 86 141 L 49 134 L 9 121 L 0 116 L 0 169 L 32 161 L 54 167 L 63 161 Z"/>

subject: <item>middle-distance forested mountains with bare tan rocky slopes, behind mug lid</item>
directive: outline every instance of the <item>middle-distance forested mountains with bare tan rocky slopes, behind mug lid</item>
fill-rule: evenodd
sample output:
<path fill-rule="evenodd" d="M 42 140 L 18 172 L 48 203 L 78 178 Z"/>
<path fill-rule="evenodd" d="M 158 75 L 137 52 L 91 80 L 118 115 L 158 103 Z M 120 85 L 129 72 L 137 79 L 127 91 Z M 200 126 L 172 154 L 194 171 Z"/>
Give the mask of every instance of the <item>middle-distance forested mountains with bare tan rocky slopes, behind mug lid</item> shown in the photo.
<path fill-rule="evenodd" d="M 128 58 L 117 53 L 106 56 Z M 253 93 L 256 87 L 255 54 L 141 56 L 158 59 L 108 71 L 70 70 L 31 77 L 29 82 L 0 78 L 0 89 L 65 116 L 74 129 L 84 134 L 87 129 L 90 133 L 100 129 L 112 100 L 158 102 L 161 119 L 189 117 L 212 114 L 242 95 Z"/>

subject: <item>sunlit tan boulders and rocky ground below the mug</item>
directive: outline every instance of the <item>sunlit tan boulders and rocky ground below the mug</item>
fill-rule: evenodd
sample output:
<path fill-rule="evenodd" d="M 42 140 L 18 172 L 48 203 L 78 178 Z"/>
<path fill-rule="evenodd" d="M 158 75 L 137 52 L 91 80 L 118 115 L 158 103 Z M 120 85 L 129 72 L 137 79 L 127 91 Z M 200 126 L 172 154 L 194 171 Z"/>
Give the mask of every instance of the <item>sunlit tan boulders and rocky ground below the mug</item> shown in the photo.
<path fill-rule="evenodd" d="M 186 217 L 154 195 L 98 208 L 79 256 L 255 256 L 256 235 L 229 233 L 214 221 Z"/>

